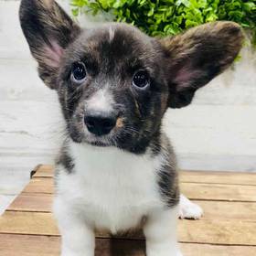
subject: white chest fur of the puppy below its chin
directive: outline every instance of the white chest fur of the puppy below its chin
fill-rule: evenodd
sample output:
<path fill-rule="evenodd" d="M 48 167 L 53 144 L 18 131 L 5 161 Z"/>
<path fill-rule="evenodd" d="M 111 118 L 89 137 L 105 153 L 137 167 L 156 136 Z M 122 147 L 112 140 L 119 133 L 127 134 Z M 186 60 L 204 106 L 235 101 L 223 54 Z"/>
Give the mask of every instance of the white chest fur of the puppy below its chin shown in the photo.
<path fill-rule="evenodd" d="M 157 157 L 84 144 L 70 144 L 70 151 L 74 173 L 60 170 L 58 197 L 96 228 L 112 233 L 131 229 L 148 212 L 163 207 Z"/>

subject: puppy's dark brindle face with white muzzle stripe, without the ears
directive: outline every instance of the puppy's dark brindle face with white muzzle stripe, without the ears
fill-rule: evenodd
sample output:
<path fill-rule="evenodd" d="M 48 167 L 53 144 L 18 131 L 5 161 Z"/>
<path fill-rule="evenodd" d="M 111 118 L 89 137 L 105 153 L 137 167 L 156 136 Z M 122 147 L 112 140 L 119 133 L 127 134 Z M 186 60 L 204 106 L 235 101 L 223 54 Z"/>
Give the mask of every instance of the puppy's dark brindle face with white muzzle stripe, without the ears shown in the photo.
<path fill-rule="evenodd" d="M 81 31 L 63 54 L 58 76 L 71 138 L 140 151 L 167 106 L 163 60 L 159 45 L 134 27 Z"/>

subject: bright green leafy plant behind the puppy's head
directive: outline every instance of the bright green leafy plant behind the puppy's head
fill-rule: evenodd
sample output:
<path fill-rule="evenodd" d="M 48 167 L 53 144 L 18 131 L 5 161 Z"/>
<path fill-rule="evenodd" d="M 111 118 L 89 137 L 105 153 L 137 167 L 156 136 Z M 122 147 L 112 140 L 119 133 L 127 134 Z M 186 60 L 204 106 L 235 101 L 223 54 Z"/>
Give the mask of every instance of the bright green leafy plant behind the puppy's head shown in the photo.
<path fill-rule="evenodd" d="M 239 23 L 256 45 L 256 0 L 71 0 L 73 15 L 111 13 L 150 36 L 176 35 L 189 27 L 216 21 Z"/>

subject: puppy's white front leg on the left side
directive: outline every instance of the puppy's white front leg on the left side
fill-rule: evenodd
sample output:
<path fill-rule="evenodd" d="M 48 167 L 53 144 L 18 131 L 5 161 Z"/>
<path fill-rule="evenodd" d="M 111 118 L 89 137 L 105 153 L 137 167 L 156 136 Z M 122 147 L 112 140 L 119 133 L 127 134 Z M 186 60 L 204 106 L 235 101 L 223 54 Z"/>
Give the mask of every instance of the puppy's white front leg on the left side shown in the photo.
<path fill-rule="evenodd" d="M 95 235 L 90 225 L 59 197 L 55 198 L 54 213 L 61 234 L 61 256 L 93 256 Z"/>

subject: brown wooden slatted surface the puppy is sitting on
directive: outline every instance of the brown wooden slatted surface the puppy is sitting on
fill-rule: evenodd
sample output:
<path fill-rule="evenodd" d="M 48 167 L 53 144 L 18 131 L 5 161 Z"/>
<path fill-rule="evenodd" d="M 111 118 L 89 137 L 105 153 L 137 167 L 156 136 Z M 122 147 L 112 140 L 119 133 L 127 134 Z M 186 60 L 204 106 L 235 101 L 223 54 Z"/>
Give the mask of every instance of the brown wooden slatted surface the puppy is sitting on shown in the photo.
<path fill-rule="evenodd" d="M 57 256 L 59 230 L 51 214 L 51 165 L 40 165 L 30 183 L 0 217 L 1 256 Z M 205 210 L 200 220 L 179 220 L 185 256 L 256 255 L 256 174 L 181 172 L 181 190 Z M 97 256 L 144 256 L 144 240 L 98 234 Z M 170 255 L 171 256 L 171 255 Z"/>

